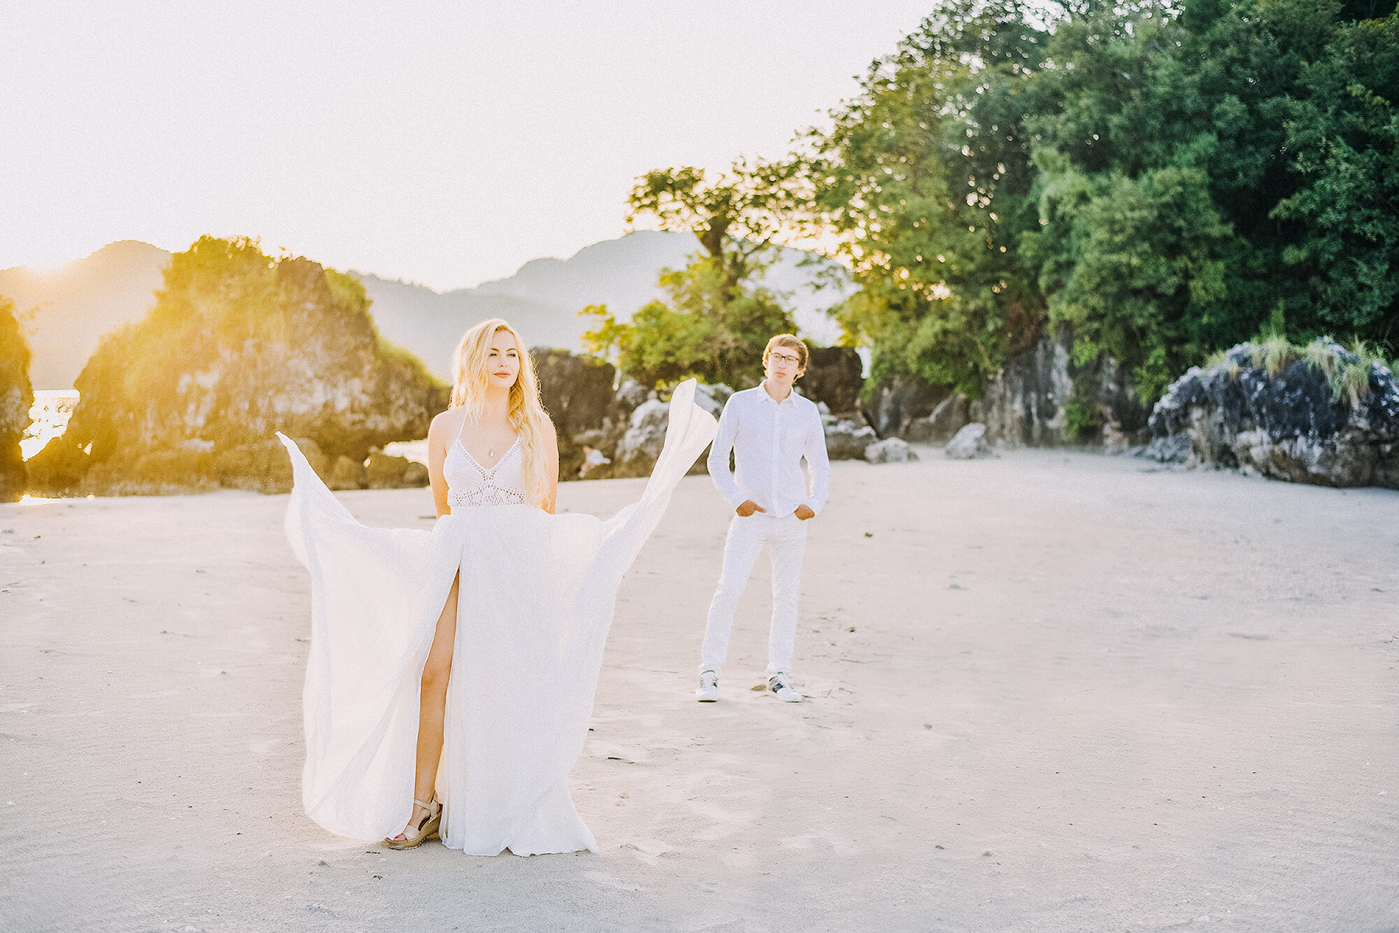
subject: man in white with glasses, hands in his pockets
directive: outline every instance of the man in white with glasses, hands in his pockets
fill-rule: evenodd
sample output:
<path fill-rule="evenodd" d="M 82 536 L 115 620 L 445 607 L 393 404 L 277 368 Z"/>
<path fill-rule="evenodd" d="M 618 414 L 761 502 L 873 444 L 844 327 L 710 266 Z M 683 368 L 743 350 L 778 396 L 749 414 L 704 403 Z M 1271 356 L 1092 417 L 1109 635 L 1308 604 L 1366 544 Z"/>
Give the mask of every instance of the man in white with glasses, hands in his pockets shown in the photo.
<path fill-rule="evenodd" d="M 764 546 L 772 548 L 772 628 L 768 635 L 768 691 L 800 702 L 790 681 L 796 601 L 806 553 L 806 523 L 825 505 L 831 462 L 821 413 L 792 392 L 806 372 L 806 344 L 778 334 L 762 351 L 765 379 L 733 393 L 709 448 L 709 476 L 734 516 L 723 546 L 723 571 L 709 603 L 700 663 L 700 702 L 719 698 L 719 669 L 729 653 L 729 629 L 739 597 Z M 737 476 L 729 471 L 734 452 Z M 806 457 L 806 474 L 802 459 Z"/>

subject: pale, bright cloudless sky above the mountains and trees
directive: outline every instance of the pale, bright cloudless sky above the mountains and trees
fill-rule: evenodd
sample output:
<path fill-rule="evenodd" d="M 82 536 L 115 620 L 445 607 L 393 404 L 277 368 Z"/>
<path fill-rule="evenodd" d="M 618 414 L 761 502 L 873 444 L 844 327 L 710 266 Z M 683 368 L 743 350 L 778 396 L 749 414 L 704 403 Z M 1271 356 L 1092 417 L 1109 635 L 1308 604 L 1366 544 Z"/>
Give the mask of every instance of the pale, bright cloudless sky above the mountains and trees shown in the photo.
<path fill-rule="evenodd" d="M 625 232 L 637 175 L 776 158 L 935 0 L 27 0 L 0 269 L 250 235 L 438 290 Z"/>

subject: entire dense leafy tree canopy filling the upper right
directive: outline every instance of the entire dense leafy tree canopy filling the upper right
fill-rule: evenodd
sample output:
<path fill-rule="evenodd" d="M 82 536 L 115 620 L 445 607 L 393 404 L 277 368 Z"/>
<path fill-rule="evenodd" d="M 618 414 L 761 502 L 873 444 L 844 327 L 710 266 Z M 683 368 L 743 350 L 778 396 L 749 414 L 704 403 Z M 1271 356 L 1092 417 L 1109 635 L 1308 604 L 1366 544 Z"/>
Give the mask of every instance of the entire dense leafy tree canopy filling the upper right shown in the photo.
<path fill-rule="evenodd" d="M 765 178 L 876 382 L 975 394 L 1070 325 L 1151 399 L 1263 332 L 1399 340 L 1396 88 L 1392 1 L 949 0 Z"/>

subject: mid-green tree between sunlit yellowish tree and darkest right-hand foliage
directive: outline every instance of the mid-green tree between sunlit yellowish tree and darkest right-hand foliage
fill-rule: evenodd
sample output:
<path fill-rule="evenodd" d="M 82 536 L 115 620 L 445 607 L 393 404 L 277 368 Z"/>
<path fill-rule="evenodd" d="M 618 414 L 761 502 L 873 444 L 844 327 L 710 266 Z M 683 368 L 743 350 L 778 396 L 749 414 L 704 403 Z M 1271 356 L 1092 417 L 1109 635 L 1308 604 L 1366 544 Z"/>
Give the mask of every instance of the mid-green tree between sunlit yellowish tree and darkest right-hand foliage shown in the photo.
<path fill-rule="evenodd" d="M 1144 399 L 1213 348 L 1238 246 L 1210 194 L 1216 137 L 1170 52 L 1182 28 L 1160 13 L 1098 10 L 1055 29 L 1028 120 L 1038 222 L 1018 238 L 1076 362 L 1107 354 Z"/>

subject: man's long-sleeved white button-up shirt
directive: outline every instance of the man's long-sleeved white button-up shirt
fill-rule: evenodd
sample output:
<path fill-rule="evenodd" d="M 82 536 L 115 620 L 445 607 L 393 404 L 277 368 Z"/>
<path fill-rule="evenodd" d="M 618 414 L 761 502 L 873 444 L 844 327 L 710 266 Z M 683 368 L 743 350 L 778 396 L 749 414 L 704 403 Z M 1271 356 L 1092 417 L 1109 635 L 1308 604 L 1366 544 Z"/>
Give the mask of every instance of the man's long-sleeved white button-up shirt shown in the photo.
<path fill-rule="evenodd" d="M 729 450 L 737 476 L 729 471 Z M 774 518 L 802 504 L 820 512 L 831 491 L 831 462 L 816 403 L 795 392 L 776 401 L 761 385 L 734 392 L 709 448 L 709 476 L 733 508 L 753 499 Z"/>

